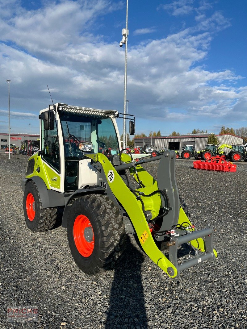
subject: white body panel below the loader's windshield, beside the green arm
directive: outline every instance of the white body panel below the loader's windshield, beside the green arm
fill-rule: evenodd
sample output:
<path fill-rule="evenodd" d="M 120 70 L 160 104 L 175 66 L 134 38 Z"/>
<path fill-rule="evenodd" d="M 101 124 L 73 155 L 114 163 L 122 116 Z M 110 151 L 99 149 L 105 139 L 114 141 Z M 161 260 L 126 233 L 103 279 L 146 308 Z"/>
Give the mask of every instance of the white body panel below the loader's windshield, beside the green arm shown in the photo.
<path fill-rule="evenodd" d="M 85 174 L 86 173 L 86 174 Z M 97 183 L 97 171 L 91 165 L 91 159 L 79 161 L 78 188 L 89 185 L 94 186 Z"/>

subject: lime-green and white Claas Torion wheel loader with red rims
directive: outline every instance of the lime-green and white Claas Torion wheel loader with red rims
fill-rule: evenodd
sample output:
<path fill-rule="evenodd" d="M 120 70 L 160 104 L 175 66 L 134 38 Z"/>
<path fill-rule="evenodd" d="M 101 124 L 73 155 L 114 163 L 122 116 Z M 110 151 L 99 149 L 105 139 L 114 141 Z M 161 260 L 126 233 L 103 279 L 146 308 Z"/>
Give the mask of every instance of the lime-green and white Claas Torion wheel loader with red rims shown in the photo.
<path fill-rule="evenodd" d="M 120 148 L 119 118 L 129 121 L 133 135 L 134 115 L 62 103 L 41 110 L 40 150 L 29 158 L 22 179 L 28 228 L 51 229 L 58 207 L 63 207 L 62 227 L 71 254 L 89 275 L 116 265 L 126 234 L 134 234 L 143 251 L 172 278 L 214 260 L 213 227 L 196 231 L 179 198 L 175 152 L 134 161 Z M 157 160 L 156 180 L 142 165 Z M 178 249 L 185 243 L 189 252 L 181 259 Z"/>

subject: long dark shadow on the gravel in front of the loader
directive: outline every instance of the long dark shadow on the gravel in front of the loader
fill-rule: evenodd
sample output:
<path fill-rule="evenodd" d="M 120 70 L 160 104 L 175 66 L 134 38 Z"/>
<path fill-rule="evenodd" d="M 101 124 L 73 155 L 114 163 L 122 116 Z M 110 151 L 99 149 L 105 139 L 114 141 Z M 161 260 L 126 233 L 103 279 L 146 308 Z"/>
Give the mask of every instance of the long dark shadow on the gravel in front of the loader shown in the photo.
<path fill-rule="evenodd" d="M 144 291 L 141 279 L 143 254 L 127 236 L 126 250 L 115 268 L 109 310 L 104 328 L 148 328 Z"/>

